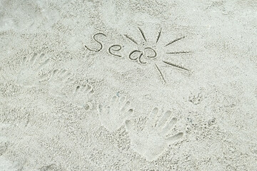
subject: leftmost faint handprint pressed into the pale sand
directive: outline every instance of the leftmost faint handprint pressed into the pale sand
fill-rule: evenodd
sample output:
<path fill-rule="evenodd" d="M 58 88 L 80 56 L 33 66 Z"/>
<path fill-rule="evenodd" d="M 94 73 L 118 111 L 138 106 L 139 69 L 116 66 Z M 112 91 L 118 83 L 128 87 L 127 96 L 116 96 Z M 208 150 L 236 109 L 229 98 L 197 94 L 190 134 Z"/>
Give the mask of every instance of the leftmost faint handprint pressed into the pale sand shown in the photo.
<path fill-rule="evenodd" d="M 21 71 L 16 78 L 16 83 L 21 86 L 33 87 L 38 86 L 40 81 L 44 81 L 44 76 L 40 76 L 41 70 L 50 62 L 44 53 L 36 54 L 30 58 L 25 57 L 21 63 Z"/>

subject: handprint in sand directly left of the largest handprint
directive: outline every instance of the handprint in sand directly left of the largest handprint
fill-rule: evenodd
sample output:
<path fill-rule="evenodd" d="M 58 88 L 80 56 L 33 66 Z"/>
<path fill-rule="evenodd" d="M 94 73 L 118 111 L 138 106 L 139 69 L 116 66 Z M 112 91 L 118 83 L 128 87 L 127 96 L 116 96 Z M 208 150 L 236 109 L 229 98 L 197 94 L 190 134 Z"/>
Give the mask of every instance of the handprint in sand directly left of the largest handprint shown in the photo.
<path fill-rule="evenodd" d="M 124 121 L 133 113 L 131 102 L 125 97 L 114 96 L 111 98 L 110 105 L 99 105 L 99 118 L 104 128 L 114 132 L 121 128 Z"/>

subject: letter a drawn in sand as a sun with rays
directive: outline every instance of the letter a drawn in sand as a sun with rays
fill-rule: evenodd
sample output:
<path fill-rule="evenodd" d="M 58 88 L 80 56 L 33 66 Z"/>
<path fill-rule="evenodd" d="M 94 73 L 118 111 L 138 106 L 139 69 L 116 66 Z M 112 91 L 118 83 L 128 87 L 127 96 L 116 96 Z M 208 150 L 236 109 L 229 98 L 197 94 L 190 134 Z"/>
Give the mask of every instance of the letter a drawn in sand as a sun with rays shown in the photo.
<path fill-rule="evenodd" d="M 153 47 L 146 46 L 146 44 L 148 44 L 148 41 L 146 39 L 145 34 L 143 33 L 143 30 L 141 28 L 139 28 L 139 27 L 138 27 L 138 30 L 140 31 L 141 36 L 143 37 L 143 43 L 138 43 L 134 38 L 132 38 L 128 34 L 124 35 L 126 38 L 129 39 L 129 41 L 134 43 L 137 46 L 137 48 L 138 48 L 138 50 L 134 50 L 134 51 L 131 51 L 131 53 L 129 53 L 129 59 L 131 59 L 132 61 L 138 61 L 138 63 L 141 63 L 141 64 L 146 64 L 147 63 L 146 58 L 148 58 L 148 59 L 155 59 L 155 58 L 158 57 L 158 55 L 156 53 L 156 50 Z M 161 38 L 161 30 L 158 32 L 158 36 L 156 38 L 156 44 L 158 43 L 160 38 Z M 164 47 L 171 46 L 173 43 L 176 43 L 177 41 L 183 40 L 183 38 L 186 38 L 186 36 L 181 36 L 179 38 L 176 38 L 173 41 L 170 41 L 169 43 L 167 43 Z M 176 55 L 176 54 L 189 54 L 189 53 L 193 53 L 193 52 L 192 51 L 166 52 L 166 54 L 173 54 L 173 55 Z M 161 62 L 165 63 L 167 66 L 176 67 L 176 68 L 179 68 L 182 71 L 189 72 L 188 68 L 185 68 L 183 66 L 179 66 L 176 63 L 172 63 L 170 61 L 161 61 Z M 156 67 L 158 73 L 160 73 L 163 82 L 166 83 L 166 80 L 165 80 L 165 78 L 163 76 L 163 73 L 161 72 L 161 69 L 158 67 L 158 65 L 156 63 L 154 63 L 154 66 Z"/>

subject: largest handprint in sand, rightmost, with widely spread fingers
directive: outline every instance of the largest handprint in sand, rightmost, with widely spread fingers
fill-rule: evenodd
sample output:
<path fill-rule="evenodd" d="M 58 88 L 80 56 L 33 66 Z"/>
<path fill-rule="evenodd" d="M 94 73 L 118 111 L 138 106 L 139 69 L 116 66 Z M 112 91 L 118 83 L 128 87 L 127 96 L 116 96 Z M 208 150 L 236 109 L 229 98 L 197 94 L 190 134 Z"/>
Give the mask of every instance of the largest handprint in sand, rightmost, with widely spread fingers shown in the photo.
<path fill-rule="evenodd" d="M 158 113 L 158 108 L 153 108 L 141 131 L 133 128 L 131 120 L 125 121 L 132 149 L 148 161 L 156 160 L 168 145 L 183 138 L 183 133 L 173 133 L 172 131 L 178 120 L 171 117 L 171 111 L 166 111 L 161 117 L 158 116 Z"/>

